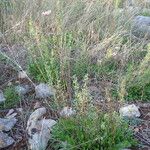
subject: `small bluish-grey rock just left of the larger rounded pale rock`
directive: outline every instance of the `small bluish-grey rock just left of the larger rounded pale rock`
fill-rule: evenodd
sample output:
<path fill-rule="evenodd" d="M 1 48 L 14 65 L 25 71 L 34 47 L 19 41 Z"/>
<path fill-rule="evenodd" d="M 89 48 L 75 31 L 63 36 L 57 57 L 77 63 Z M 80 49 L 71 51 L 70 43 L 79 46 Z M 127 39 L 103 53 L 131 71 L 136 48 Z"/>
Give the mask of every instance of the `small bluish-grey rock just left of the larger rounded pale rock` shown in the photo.
<path fill-rule="evenodd" d="M 15 89 L 19 95 L 25 95 L 29 92 L 30 87 L 28 85 L 18 85 Z"/>

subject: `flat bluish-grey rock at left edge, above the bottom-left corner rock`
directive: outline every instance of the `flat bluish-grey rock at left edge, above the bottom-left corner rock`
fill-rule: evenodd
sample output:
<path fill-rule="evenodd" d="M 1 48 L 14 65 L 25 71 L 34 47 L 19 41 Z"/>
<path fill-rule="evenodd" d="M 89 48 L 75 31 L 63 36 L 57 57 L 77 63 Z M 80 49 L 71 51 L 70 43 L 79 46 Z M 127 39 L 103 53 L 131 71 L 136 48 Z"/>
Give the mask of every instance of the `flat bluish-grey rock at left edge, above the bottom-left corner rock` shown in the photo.
<path fill-rule="evenodd" d="M 16 122 L 16 118 L 0 118 L 0 131 L 10 131 Z"/>

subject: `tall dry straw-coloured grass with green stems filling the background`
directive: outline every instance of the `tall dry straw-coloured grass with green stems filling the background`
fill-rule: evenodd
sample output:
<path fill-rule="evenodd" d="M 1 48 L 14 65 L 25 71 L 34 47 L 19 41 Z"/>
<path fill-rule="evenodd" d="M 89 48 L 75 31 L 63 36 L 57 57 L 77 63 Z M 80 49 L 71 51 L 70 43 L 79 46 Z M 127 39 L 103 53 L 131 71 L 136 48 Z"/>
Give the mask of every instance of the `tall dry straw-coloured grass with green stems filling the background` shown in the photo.
<path fill-rule="evenodd" d="M 138 64 L 132 55 L 149 50 L 144 40 L 132 38 L 135 14 L 123 5 L 121 0 L 1 1 L 3 42 L 27 47 L 29 72 L 37 81 L 60 82 L 71 93 L 72 77 L 88 74 L 112 82 L 118 99 L 125 99 L 131 80 L 140 83 L 149 75 L 149 53 L 139 56 Z"/>

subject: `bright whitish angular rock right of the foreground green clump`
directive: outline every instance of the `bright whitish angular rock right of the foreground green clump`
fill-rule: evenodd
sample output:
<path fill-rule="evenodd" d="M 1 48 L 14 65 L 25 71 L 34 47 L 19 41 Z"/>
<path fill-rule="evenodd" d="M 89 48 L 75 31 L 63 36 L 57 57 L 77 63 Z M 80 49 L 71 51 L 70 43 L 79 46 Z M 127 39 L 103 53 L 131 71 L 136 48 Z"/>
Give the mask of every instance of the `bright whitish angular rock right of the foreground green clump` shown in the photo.
<path fill-rule="evenodd" d="M 121 107 L 119 113 L 123 117 L 140 117 L 141 115 L 139 108 L 134 104 Z"/>

